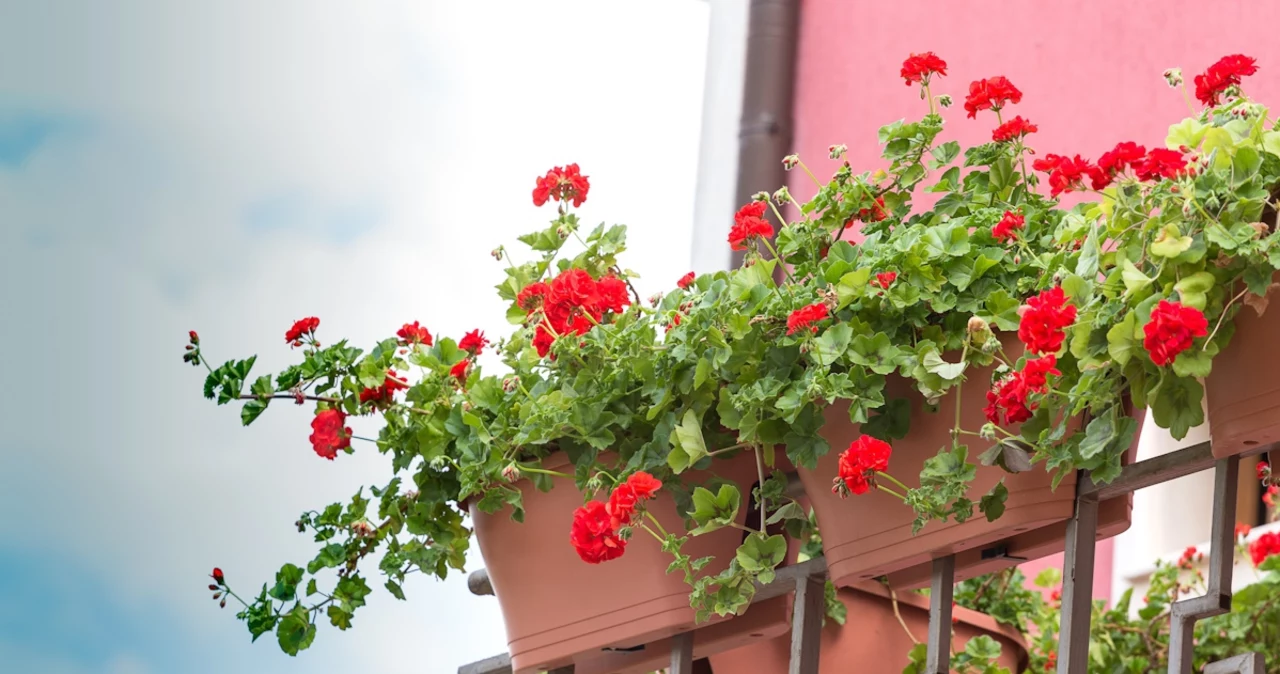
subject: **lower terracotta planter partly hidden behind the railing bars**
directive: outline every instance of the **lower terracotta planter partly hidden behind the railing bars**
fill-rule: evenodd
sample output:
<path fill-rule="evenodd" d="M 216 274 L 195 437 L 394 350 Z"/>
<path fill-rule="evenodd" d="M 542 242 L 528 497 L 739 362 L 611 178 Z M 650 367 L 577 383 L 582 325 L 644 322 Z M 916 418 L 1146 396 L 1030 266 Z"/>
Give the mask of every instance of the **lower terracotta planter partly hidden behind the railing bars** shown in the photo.
<path fill-rule="evenodd" d="M 850 671 L 899 673 L 910 662 L 911 637 L 893 615 L 888 590 L 879 583 L 859 583 L 840 591 L 840 600 L 849 609 L 845 625 L 828 622 L 822 631 L 819 674 L 846 674 Z M 899 611 L 911 634 L 928 639 L 929 600 L 914 592 L 897 593 Z M 1018 631 L 997 624 L 991 616 L 956 607 L 952 625 L 952 647 L 964 645 L 980 634 L 1000 643 L 1000 664 L 1010 671 L 1027 668 L 1027 642 Z M 716 674 L 787 674 L 790 671 L 791 636 L 765 643 L 727 651 L 710 657 Z"/>

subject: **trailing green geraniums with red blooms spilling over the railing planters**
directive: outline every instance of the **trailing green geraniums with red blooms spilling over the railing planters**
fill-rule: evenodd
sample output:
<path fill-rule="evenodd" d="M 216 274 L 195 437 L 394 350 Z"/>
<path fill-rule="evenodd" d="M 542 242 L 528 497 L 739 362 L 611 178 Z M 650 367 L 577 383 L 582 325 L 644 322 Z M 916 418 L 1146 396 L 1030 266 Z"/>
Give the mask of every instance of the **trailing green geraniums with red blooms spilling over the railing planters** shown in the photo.
<path fill-rule="evenodd" d="M 211 367 L 192 333 L 186 361 L 209 370 L 205 395 L 241 402 L 243 423 L 284 399 L 311 411 L 317 455 L 334 460 L 355 440 L 390 458 L 393 476 L 370 498 L 361 490 L 298 519 L 320 545 L 314 559 L 285 564 L 255 596 L 216 583 L 242 601 L 253 637 L 274 629 L 296 654 L 321 613 L 349 627 L 375 553 L 397 597 L 408 573 L 460 570 L 471 535 L 463 504 L 518 521 L 525 480 L 584 495 L 564 522 L 584 561 L 607 563 L 652 535 L 645 545 L 673 555 L 699 619 L 740 613 L 783 561 L 781 531 L 810 526 L 780 468 L 813 467 L 832 450 L 820 430 L 837 404 L 863 436 L 836 448 L 835 489 L 895 494 L 916 528 L 1001 514 L 1002 483 L 969 494 L 977 463 L 1016 472 L 1043 462 L 1059 478 L 1088 469 L 1106 481 L 1137 430 L 1133 409 L 1149 404 L 1176 436 L 1199 423 L 1197 377 L 1230 338 L 1231 315 L 1265 307 L 1280 266 L 1277 235 L 1260 224 L 1280 179 L 1280 132 L 1239 91 L 1252 59 L 1197 78 L 1208 107 L 1171 128 L 1169 148 L 1125 142 L 1097 162 L 1033 159 L 1037 125 L 1009 115 L 1023 95 L 1004 77 L 974 82 L 964 101 L 969 118 L 989 120 L 992 141 L 963 151 L 940 142 L 951 100 L 931 84 L 946 70 L 933 54 L 904 63 L 927 111 L 879 129 L 883 168 L 856 173 L 837 145 L 823 182 L 800 157 L 783 159 L 815 194 L 800 203 L 782 188 L 744 205 L 726 224 L 744 252 L 739 269 L 690 272 L 640 298 L 620 262 L 625 228 L 581 226 L 590 182 L 568 165 L 536 179 L 534 206 L 556 210 L 520 238 L 531 253 L 494 251 L 509 336 L 454 340 L 413 321 L 365 352 L 321 344 L 310 317 L 285 334 L 300 362 L 255 379 L 253 358 Z M 1057 198 L 1069 192 L 1093 201 L 1065 208 Z M 916 203 L 922 193 L 931 205 Z M 846 240 L 855 231 L 860 240 Z M 500 364 L 486 372 L 483 353 Z M 957 416 L 919 478 L 892 477 L 892 441 L 911 418 L 887 380 L 936 403 L 988 366 L 988 423 L 966 428 Z M 379 417 L 378 436 L 355 437 L 355 416 Z M 544 467 L 557 453 L 571 473 Z M 726 460 L 753 462 L 756 481 L 718 477 Z M 658 522 L 645 509 L 654 498 L 673 499 L 687 522 Z M 709 559 L 685 544 L 722 527 L 745 528 L 744 542 L 724 570 L 703 573 Z"/>

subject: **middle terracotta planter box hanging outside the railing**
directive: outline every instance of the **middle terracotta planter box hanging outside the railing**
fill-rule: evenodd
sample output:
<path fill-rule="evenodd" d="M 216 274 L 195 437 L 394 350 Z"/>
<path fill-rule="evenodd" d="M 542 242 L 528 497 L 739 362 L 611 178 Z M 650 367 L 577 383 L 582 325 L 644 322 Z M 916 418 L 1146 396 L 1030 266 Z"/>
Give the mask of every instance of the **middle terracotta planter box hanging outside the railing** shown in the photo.
<path fill-rule="evenodd" d="M 987 404 L 988 382 L 989 370 L 979 370 L 961 385 L 963 427 L 978 428 L 986 422 L 983 407 Z M 890 395 L 911 400 L 910 435 L 892 443 L 890 472 L 908 485 L 918 483 L 925 459 L 934 457 L 938 449 L 951 441 L 956 395 L 952 393 L 943 396 L 938 411 L 931 413 L 924 409 L 923 396 L 910 390 L 908 381 L 893 377 L 888 386 Z M 954 519 L 946 523 L 929 522 L 913 536 L 914 513 L 896 498 L 877 490 L 849 499 L 832 494 L 840 453 L 859 435 L 859 426 L 849 422 L 846 405 L 828 407 L 823 436 L 832 449 L 818 459 L 815 469 L 799 468 L 805 492 L 818 515 L 827 568 L 837 586 L 879 576 L 890 576 L 895 587 L 928 584 L 929 563 L 946 555 L 957 555 L 959 581 L 1023 560 L 1010 558 L 1036 559 L 1062 550 L 1066 521 L 1074 509 L 1074 474 L 1062 480 L 1053 490 L 1052 476 L 1042 464 L 1016 474 L 979 464 L 969 498 L 977 503 L 1004 478 L 1009 489 L 1005 514 L 996 522 L 987 522 L 975 509 L 974 517 L 965 523 Z M 969 460 L 978 463 L 978 454 L 987 445 L 973 441 L 969 445 Z M 1129 460 L 1137 446 L 1135 434 L 1129 448 Z M 1132 496 L 1126 495 L 1102 504 L 1100 537 L 1115 536 L 1129 528 L 1132 503 Z"/>

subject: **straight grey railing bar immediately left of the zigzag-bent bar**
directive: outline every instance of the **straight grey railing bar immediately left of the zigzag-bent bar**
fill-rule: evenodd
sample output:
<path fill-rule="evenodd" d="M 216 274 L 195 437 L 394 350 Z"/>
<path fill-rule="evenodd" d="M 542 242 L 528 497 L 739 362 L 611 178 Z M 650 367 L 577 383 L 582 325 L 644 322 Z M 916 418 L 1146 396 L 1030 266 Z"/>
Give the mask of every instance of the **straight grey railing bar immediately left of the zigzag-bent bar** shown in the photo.
<path fill-rule="evenodd" d="M 1089 619 L 1093 613 L 1093 554 L 1098 535 L 1098 501 L 1075 498 L 1066 522 L 1062 559 L 1062 616 L 1057 647 L 1059 674 L 1085 674 L 1089 666 Z"/>

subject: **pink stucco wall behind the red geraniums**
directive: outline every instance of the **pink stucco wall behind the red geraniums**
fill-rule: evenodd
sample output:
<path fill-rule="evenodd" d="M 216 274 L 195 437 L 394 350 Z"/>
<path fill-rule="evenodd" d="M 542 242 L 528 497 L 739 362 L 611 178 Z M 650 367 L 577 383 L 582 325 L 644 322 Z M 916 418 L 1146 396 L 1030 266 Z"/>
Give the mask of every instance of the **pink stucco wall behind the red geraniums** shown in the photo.
<path fill-rule="evenodd" d="M 969 82 L 1005 75 L 1039 125 L 1028 141 L 1039 153 L 1097 159 L 1119 141 L 1162 146 L 1170 124 L 1188 114 L 1183 96 L 1161 73 L 1180 67 L 1192 77 L 1226 54 L 1258 59 L 1245 91 L 1280 106 L 1280 3 L 1125 0 L 1089 3 L 942 3 L 924 0 L 801 0 L 795 150 L 819 178 L 835 170 L 827 146 L 845 143 L 855 171 L 883 166 L 876 129 L 919 118 L 925 104 L 899 77 L 913 51 L 933 51 L 948 64 L 934 93 L 950 93 L 942 139 L 964 146 L 991 139 L 995 115 L 966 119 Z M 791 174 L 791 191 L 813 184 Z M 1098 546 L 1094 597 L 1108 597 L 1112 546 Z M 1060 558 L 1029 564 L 1034 576 Z"/>

